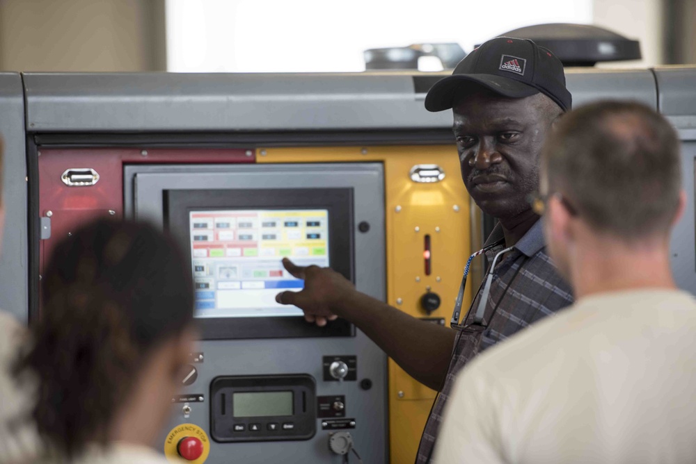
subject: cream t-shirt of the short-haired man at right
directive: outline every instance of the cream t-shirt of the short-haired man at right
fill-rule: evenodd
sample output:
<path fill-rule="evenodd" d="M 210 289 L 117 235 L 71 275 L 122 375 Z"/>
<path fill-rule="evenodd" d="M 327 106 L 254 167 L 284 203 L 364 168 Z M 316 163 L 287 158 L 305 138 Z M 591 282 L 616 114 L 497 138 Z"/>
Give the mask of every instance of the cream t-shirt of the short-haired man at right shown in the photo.
<path fill-rule="evenodd" d="M 434 462 L 696 463 L 696 301 L 592 295 L 460 374 Z"/>

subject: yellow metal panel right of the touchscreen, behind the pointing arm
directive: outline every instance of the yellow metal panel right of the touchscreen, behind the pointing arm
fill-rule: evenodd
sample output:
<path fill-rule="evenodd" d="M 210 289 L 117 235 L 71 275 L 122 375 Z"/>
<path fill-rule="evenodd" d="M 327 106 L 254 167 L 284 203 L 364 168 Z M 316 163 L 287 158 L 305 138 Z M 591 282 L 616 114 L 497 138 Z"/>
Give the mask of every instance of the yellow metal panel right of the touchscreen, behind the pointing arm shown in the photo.
<path fill-rule="evenodd" d="M 469 197 L 454 146 L 292 147 L 257 151 L 258 163 L 379 162 L 384 166 L 388 304 L 414 317 L 440 317 L 449 326 L 461 272 L 470 255 Z M 411 167 L 436 164 L 437 183 L 415 183 Z M 424 237 L 431 237 L 432 274 L 425 275 Z M 420 307 L 431 288 L 441 298 L 432 315 Z M 465 295 L 468 308 L 470 288 Z M 427 340 L 423 340 L 427 343 Z M 413 463 L 434 390 L 389 360 L 389 430 L 392 464 Z"/>

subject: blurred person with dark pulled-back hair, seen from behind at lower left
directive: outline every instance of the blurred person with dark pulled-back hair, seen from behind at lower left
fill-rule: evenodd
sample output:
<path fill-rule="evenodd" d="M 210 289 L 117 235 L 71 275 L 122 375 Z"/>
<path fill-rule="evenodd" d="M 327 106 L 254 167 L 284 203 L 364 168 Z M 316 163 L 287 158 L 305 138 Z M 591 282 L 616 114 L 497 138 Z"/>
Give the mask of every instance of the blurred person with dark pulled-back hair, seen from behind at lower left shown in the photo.
<path fill-rule="evenodd" d="M 65 238 L 42 279 L 40 322 L 17 375 L 47 463 L 166 463 L 151 445 L 193 349 L 193 285 L 154 227 L 100 219 Z"/>

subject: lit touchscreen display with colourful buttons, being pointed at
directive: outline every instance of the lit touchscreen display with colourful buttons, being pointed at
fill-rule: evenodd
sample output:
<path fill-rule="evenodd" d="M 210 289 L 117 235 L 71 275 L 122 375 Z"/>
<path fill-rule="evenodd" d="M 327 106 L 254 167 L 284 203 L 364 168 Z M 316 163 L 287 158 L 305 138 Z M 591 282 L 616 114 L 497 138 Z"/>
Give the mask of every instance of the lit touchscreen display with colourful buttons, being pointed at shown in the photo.
<path fill-rule="evenodd" d="M 329 210 L 205 210 L 189 212 L 196 317 L 297 316 L 276 303 L 303 281 L 283 269 L 329 266 Z"/>

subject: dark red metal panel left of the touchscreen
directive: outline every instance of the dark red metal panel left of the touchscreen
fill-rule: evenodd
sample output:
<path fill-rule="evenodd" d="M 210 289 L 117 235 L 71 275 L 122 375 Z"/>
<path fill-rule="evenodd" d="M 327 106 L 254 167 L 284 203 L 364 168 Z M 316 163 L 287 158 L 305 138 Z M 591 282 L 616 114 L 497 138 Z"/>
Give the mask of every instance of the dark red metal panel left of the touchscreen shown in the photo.
<path fill-rule="evenodd" d="M 51 216 L 51 238 L 40 242 L 40 272 L 58 240 L 100 215 L 123 215 L 123 166 L 128 164 L 255 163 L 253 149 L 41 149 L 39 213 Z M 66 169 L 91 168 L 99 175 L 90 187 L 68 187 Z"/>

